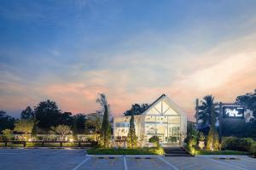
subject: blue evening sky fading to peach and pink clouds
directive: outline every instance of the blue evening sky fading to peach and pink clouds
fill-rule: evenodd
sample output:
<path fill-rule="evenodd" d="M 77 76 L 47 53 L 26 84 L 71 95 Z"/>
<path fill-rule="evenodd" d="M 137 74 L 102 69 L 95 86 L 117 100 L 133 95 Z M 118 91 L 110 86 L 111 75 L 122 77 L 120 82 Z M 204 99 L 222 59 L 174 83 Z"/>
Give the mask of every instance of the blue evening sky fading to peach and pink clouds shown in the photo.
<path fill-rule="evenodd" d="M 195 99 L 234 102 L 256 88 L 254 0 L 0 0 L 0 110 L 54 100 L 113 116 L 169 96 L 193 120 Z"/>

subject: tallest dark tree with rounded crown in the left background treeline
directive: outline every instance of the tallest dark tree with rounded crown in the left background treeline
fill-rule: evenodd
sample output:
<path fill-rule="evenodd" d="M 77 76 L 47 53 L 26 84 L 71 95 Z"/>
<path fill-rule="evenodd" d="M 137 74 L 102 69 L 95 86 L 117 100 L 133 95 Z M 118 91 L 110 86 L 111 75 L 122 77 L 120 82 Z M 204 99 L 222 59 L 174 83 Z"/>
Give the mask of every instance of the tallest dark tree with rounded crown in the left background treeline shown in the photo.
<path fill-rule="evenodd" d="M 61 110 L 54 101 L 49 99 L 40 102 L 34 109 L 38 127 L 49 130 L 50 127 L 55 127 L 61 119 Z"/>

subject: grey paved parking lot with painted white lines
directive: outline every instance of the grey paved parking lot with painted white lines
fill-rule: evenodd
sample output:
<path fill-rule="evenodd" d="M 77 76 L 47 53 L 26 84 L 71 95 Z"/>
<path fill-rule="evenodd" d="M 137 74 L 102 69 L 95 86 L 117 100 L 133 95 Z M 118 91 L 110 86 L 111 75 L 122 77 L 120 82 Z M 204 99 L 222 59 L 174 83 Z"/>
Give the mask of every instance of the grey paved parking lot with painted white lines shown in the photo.
<path fill-rule="evenodd" d="M 0 157 L 0 169 L 4 170 L 256 169 L 256 159 L 247 156 L 86 156 L 85 150 L 1 149 Z"/>

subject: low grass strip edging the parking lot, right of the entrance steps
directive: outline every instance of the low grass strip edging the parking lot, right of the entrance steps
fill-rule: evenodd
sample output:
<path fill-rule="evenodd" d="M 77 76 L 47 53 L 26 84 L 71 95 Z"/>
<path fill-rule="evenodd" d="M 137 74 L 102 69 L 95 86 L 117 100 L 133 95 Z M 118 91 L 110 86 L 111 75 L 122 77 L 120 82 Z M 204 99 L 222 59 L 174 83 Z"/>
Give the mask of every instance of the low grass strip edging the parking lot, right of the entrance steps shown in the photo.
<path fill-rule="evenodd" d="M 195 155 L 236 155 L 236 156 L 247 156 L 250 155 L 246 151 L 237 150 L 195 150 Z"/>

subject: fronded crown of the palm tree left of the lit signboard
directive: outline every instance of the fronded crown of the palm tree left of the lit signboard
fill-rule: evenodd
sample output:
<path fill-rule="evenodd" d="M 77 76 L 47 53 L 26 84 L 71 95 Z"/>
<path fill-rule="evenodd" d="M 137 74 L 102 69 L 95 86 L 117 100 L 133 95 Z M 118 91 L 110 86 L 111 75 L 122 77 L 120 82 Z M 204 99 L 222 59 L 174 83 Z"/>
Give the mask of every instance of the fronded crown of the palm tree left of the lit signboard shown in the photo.
<path fill-rule="evenodd" d="M 214 127 L 216 116 L 218 115 L 216 105 L 217 103 L 214 103 L 212 95 L 207 95 L 203 98 L 201 105 L 198 106 L 198 119 L 202 120 L 202 124 Z"/>

